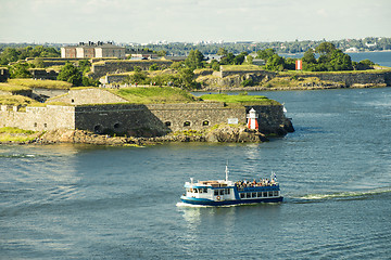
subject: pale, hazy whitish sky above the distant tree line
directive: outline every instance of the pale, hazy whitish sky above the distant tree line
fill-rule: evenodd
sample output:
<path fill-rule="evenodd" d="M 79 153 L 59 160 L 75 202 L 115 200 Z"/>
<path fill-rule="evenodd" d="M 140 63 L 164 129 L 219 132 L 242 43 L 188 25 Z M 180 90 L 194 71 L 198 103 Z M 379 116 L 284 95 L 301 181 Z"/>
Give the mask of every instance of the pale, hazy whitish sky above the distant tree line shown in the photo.
<path fill-rule="evenodd" d="M 390 0 L 0 0 L 0 42 L 391 37 Z"/>

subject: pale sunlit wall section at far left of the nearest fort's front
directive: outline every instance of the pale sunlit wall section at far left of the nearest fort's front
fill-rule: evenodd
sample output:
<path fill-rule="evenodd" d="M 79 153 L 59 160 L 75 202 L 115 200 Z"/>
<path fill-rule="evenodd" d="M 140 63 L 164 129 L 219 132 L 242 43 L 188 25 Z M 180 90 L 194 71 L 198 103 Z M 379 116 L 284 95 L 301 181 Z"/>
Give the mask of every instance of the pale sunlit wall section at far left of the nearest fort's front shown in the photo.
<path fill-rule="evenodd" d="M 75 107 L 48 105 L 47 107 L 26 107 L 26 112 L 1 106 L 2 127 L 15 127 L 25 130 L 75 129 Z"/>

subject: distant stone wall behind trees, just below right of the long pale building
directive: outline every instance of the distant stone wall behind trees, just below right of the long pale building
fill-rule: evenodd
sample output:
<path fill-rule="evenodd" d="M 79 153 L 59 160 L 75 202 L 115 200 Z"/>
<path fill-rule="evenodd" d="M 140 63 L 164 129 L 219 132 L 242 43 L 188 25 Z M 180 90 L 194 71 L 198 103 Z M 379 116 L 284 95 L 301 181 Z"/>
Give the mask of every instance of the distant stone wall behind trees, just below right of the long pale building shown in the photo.
<path fill-rule="evenodd" d="M 99 63 L 93 63 L 91 66 L 90 76 L 94 79 L 98 79 L 106 74 L 118 74 L 133 72 L 136 66 L 141 67 L 143 70 L 148 70 L 152 64 L 157 64 L 161 68 L 169 67 L 172 61 L 161 61 L 161 60 L 148 60 L 148 61 L 102 61 Z"/>

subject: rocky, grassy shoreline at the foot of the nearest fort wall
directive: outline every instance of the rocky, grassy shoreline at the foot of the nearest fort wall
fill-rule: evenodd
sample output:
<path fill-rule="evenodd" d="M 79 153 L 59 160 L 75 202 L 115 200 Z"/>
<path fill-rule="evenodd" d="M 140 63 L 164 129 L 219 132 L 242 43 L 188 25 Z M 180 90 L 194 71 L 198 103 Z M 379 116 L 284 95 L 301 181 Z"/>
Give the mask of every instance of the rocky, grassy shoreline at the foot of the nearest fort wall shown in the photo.
<path fill-rule="evenodd" d="M 280 134 L 285 135 L 292 129 L 280 129 Z M 10 134 L 9 134 L 10 135 Z M 265 134 L 257 130 L 248 129 L 245 126 L 220 126 L 217 129 L 207 132 L 185 131 L 179 133 L 169 133 L 163 136 L 135 138 L 135 136 L 110 136 L 106 134 L 96 134 L 85 130 L 54 130 L 48 132 L 36 132 L 34 134 L 21 134 L 17 136 L 26 138 L 26 141 L 3 141 L 0 144 L 92 144 L 109 146 L 143 146 L 168 142 L 211 142 L 211 143 L 257 143 L 267 142 Z"/>

